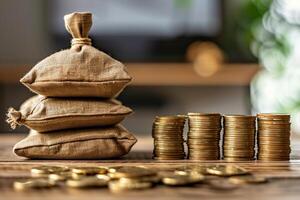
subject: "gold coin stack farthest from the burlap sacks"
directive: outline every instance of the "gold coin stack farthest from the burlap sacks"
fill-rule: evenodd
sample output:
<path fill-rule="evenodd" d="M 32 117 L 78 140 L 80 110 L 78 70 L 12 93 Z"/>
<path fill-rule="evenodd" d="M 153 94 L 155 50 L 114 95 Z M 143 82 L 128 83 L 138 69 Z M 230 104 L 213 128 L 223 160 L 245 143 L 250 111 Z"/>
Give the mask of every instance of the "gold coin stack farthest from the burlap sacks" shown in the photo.
<path fill-rule="evenodd" d="M 258 159 L 289 160 L 290 115 L 257 114 Z"/>

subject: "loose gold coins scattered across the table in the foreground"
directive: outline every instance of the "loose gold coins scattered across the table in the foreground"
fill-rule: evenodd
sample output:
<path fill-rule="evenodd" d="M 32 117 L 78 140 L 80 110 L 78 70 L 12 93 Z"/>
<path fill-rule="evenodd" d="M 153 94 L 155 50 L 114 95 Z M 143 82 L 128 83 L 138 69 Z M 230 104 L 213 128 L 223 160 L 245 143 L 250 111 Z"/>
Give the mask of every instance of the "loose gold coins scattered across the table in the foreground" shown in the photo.
<path fill-rule="evenodd" d="M 153 166 L 152 166 L 153 167 Z M 228 179 L 206 179 L 206 175 L 228 177 Z M 234 176 L 234 179 L 233 179 Z M 211 182 L 210 180 L 216 180 Z M 224 182 L 227 180 L 227 183 Z M 230 189 L 230 184 L 255 184 L 265 182 L 244 168 L 236 165 L 182 165 L 167 169 L 154 166 L 39 166 L 31 169 L 31 178 L 14 182 L 14 189 L 50 189 L 50 188 L 109 188 L 111 192 L 143 190 L 159 185 L 195 186 L 205 181 L 213 188 Z M 221 182 L 220 182 L 221 181 Z"/>

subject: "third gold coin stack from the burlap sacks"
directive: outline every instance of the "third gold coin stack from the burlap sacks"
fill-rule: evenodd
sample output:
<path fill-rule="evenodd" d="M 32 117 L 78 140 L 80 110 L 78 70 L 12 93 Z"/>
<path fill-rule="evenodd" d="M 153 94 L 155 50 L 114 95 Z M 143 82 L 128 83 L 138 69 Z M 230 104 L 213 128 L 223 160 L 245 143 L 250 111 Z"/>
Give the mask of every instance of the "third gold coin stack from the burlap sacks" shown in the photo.
<path fill-rule="evenodd" d="M 246 161 L 254 159 L 256 134 L 255 120 L 255 116 L 224 116 L 224 160 Z"/>

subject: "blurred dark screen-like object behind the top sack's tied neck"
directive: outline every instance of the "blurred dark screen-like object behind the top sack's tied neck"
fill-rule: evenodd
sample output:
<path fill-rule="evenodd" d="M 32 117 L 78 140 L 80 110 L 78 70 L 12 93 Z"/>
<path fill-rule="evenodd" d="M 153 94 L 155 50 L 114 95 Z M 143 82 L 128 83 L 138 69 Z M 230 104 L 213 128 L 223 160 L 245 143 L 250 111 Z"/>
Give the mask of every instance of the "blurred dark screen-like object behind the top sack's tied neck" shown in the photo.
<path fill-rule="evenodd" d="M 83 1 L 54 0 L 50 8 L 50 32 L 56 48 L 67 44 L 64 13 L 93 12 L 99 22 L 93 26 L 93 44 L 124 62 L 184 62 L 194 41 L 217 42 L 223 28 L 221 0 Z"/>

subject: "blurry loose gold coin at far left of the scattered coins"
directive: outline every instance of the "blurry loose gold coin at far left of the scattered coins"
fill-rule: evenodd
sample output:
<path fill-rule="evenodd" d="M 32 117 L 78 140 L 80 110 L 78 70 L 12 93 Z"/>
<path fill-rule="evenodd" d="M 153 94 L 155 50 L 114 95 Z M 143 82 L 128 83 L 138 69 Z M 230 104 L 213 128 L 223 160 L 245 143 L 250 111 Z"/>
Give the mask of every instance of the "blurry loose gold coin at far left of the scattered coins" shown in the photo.
<path fill-rule="evenodd" d="M 13 186 L 15 190 L 41 189 L 54 187 L 56 184 L 47 179 L 29 179 L 26 181 L 15 181 Z"/>

